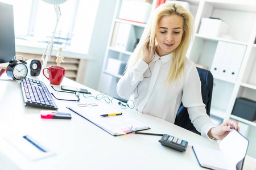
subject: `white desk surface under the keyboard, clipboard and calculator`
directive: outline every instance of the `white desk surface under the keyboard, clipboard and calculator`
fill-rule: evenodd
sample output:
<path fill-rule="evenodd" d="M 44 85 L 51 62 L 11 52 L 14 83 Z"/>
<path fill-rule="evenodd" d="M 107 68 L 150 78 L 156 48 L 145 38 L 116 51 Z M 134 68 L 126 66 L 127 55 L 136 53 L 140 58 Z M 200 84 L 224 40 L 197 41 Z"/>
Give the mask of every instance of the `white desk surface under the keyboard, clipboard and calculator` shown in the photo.
<path fill-rule="evenodd" d="M 42 80 L 54 93 L 48 80 Z M 99 94 L 66 78 L 61 85 L 87 88 L 93 96 Z M 72 120 L 44 120 L 40 118 L 42 109 L 24 107 L 19 81 L 0 81 L 0 87 L 0 158 L 14 169 L 203 169 L 196 160 L 192 146 L 197 144 L 218 148 L 218 143 L 170 122 L 135 109 L 121 109 L 115 99 L 107 104 L 104 99 L 98 101 L 80 94 L 80 103 L 113 107 L 148 125 L 151 129 L 145 132 L 171 134 L 188 141 L 187 151 L 178 152 L 160 145 L 158 136 L 127 134 L 114 137 L 65 108 L 77 102 L 55 100 L 58 111 L 71 113 Z M 20 133 L 30 135 L 55 155 L 31 162 L 4 139 Z M 244 169 L 251 169 L 251 163 L 255 164 L 255 159 L 246 157 Z"/>

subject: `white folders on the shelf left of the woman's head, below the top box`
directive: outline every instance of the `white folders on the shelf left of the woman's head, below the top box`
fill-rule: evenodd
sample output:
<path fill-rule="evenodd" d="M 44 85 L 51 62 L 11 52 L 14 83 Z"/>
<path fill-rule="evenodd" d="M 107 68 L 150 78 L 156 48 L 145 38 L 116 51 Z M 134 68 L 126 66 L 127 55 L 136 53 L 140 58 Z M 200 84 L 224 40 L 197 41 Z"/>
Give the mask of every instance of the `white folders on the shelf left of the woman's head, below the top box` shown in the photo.
<path fill-rule="evenodd" d="M 119 23 L 115 48 L 118 50 L 132 51 L 136 43 L 134 25 Z"/>

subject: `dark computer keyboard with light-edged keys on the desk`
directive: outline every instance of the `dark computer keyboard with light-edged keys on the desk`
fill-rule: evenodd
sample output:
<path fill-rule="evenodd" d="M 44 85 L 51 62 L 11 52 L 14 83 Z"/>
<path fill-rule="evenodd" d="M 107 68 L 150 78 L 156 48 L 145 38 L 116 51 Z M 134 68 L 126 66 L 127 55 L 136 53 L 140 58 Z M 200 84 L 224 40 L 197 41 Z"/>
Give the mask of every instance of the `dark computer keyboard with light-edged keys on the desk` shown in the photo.
<path fill-rule="evenodd" d="M 24 78 L 20 80 L 25 106 L 56 110 L 57 105 L 52 99 L 46 84 L 40 80 Z"/>

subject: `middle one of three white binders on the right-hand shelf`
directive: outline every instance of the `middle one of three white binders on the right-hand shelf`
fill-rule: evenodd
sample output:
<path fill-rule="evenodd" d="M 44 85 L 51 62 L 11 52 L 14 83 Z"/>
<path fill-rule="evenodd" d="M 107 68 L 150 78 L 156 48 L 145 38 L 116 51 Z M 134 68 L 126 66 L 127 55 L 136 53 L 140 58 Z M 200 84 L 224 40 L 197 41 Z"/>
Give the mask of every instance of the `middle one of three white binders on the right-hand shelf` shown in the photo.
<path fill-rule="evenodd" d="M 226 46 L 224 58 L 221 62 L 220 73 L 218 73 L 218 78 L 221 78 L 221 79 L 228 78 L 230 65 L 231 65 L 236 47 L 237 47 L 236 44 L 228 42 Z"/>

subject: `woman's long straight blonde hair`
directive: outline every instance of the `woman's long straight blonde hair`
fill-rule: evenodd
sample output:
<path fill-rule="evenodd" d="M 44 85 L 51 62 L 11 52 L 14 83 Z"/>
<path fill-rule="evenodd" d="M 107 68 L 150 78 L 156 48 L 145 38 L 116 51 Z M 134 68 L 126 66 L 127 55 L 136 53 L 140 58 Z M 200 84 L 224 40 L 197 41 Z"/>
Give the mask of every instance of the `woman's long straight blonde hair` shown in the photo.
<path fill-rule="evenodd" d="M 156 31 L 158 30 L 159 20 L 166 15 L 179 15 L 183 18 L 183 36 L 180 45 L 172 52 L 171 67 L 166 78 L 166 82 L 171 84 L 183 76 L 185 69 L 186 53 L 192 37 L 193 18 L 189 11 L 185 10 L 177 3 L 164 3 L 154 11 L 154 14 L 148 19 L 147 25 L 143 31 L 141 40 L 135 48 L 133 55 L 129 58 L 126 71 L 130 70 L 143 55 L 143 46 L 149 40 L 149 50 L 151 56 L 154 55 L 154 46 Z"/>

